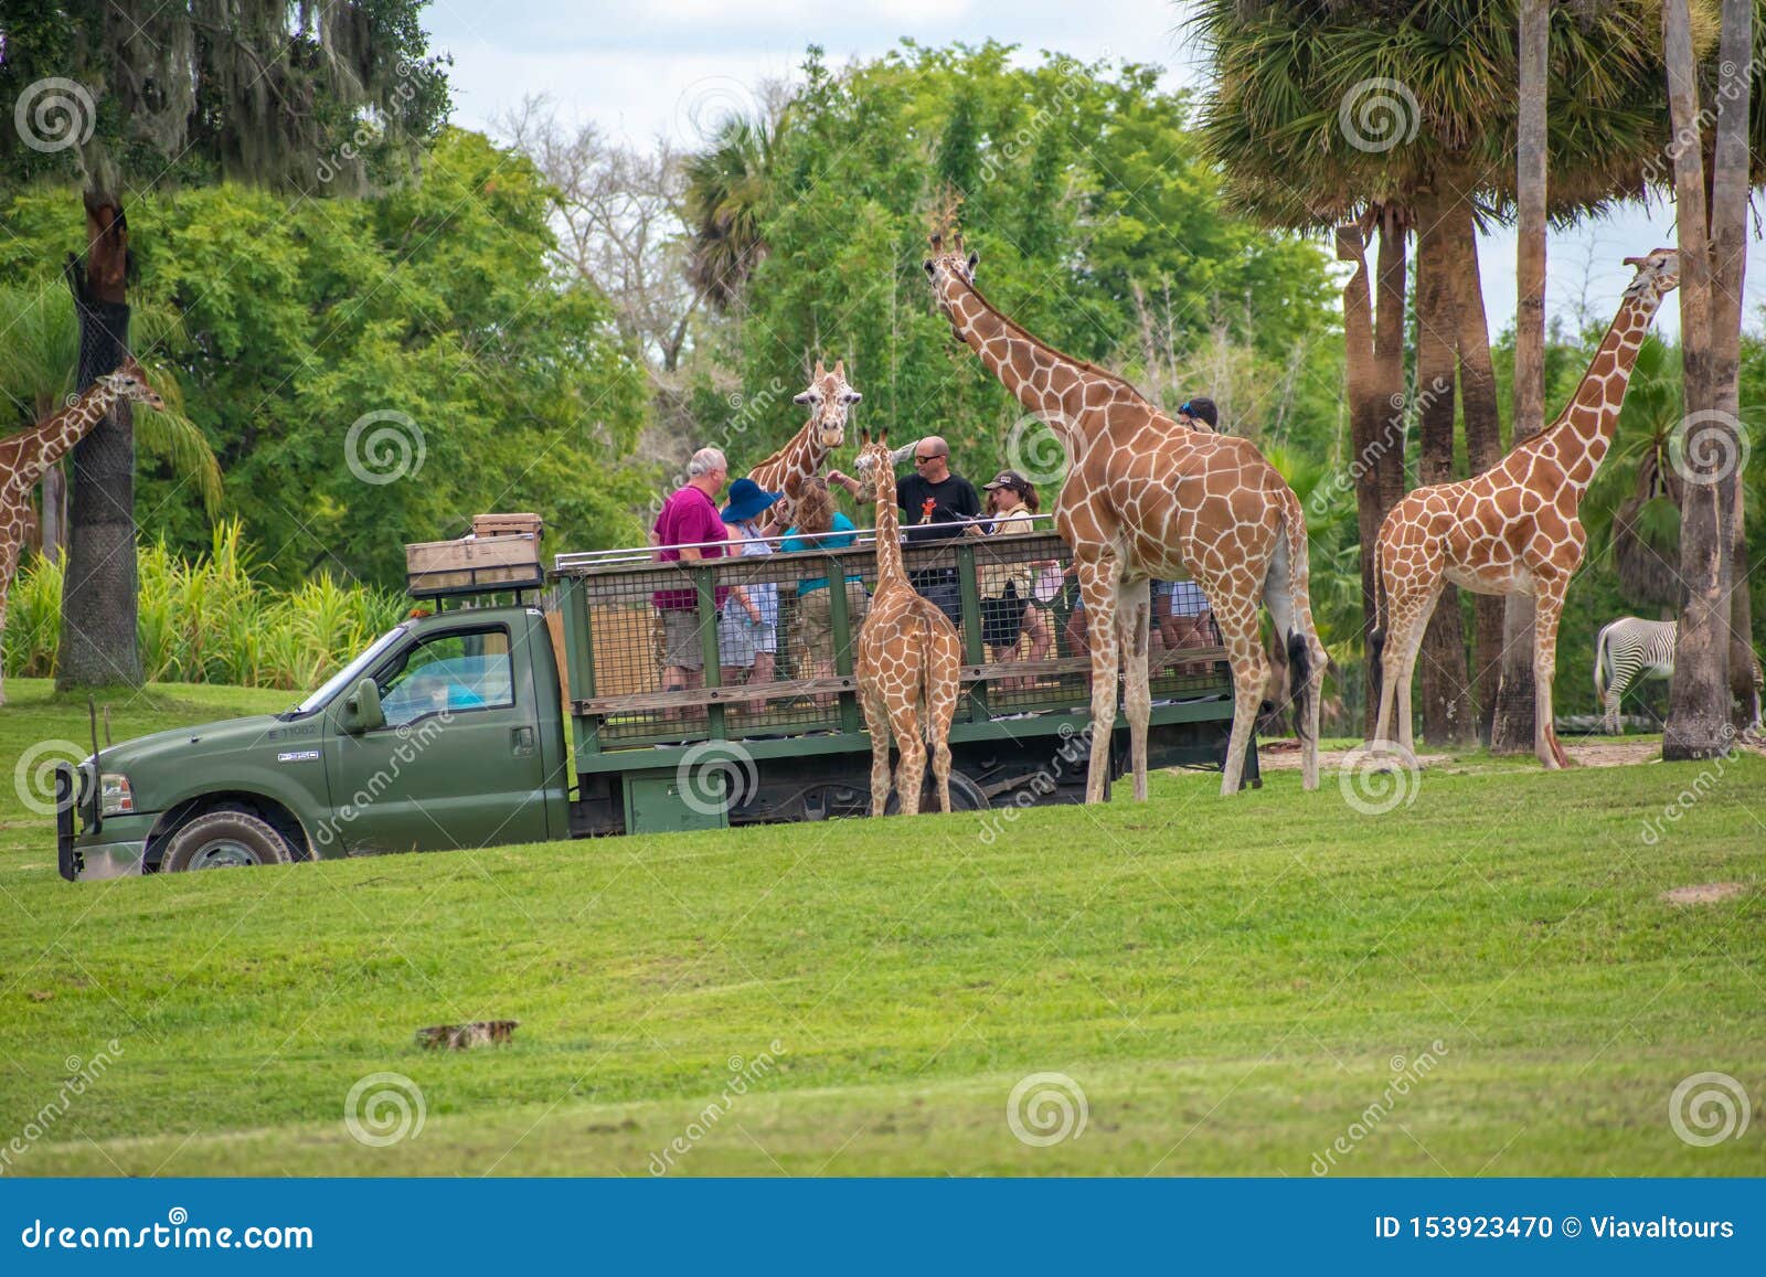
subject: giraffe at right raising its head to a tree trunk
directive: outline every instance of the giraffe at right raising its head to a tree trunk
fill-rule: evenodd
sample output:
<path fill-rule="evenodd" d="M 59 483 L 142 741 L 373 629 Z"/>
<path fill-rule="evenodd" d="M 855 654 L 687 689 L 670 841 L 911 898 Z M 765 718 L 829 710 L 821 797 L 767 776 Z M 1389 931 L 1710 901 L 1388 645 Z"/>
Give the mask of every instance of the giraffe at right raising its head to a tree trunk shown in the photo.
<path fill-rule="evenodd" d="M 1612 445 L 1649 321 L 1679 284 L 1674 249 L 1625 258 L 1625 265 L 1637 267 L 1637 276 L 1558 420 L 1482 475 L 1418 487 L 1386 514 L 1376 542 L 1377 616 L 1369 645 L 1369 676 L 1379 689 L 1376 751 L 1392 745 L 1395 699 L 1399 745 L 1415 756 L 1411 675 L 1429 613 L 1452 581 L 1475 593 L 1529 593 L 1536 601 L 1533 752 L 1549 770 L 1568 767 L 1552 729 L 1551 680 L 1563 599 L 1588 544 L 1577 510 Z"/>

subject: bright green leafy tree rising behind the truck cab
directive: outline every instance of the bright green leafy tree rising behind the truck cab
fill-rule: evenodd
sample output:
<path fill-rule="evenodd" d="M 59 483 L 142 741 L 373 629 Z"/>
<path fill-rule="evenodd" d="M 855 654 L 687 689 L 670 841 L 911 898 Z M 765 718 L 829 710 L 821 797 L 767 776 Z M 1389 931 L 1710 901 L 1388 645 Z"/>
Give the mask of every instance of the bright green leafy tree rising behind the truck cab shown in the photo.
<path fill-rule="evenodd" d="M 539 171 L 456 129 L 424 162 L 422 185 L 364 200 L 223 184 L 131 210 L 136 291 L 180 320 L 185 412 L 275 585 L 396 586 L 401 542 L 489 509 L 537 510 L 567 548 L 641 539 L 643 369 L 608 302 L 553 279 Z M 18 235 L 0 274 L 58 256 L 62 200 L 0 208 Z M 143 477 L 141 528 L 187 556 L 210 544 L 168 473 Z"/>

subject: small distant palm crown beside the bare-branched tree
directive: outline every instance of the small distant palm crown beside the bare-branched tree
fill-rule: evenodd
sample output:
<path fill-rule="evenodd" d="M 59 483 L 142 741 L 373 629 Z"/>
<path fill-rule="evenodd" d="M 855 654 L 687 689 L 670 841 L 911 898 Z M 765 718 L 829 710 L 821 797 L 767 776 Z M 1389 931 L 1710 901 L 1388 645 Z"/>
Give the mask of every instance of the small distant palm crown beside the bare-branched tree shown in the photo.
<path fill-rule="evenodd" d="M 766 256 L 761 223 L 772 171 L 775 125 L 729 117 L 712 145 L 687 161 L 687 279 L 717 311 L 742 297 Z"/>

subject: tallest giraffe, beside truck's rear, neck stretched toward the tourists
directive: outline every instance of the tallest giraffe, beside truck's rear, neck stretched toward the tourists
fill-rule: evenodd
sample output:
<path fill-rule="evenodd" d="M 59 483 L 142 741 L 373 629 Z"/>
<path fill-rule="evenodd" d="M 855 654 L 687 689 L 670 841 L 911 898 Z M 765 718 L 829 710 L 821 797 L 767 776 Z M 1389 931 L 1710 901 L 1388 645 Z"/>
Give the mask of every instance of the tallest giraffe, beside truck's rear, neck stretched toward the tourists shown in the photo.
<path fill-rule="evenodd" d="M 1100 802 L 1109 781 L 1118 669 L 1134 797 L 1146 798 L 1148 579 L 1180 574 L 1194 578 L 1208 595 L 1233 664 L 1233 735 L 1220 793 L 1240 788 L 1245 745 L 1268 680 L 1259 599 L 1287 645 L 1291 685 L 1300 698 L 1302 775 L 1305 788 L 1316 790 L 1326 655 L 1307 597 L 1300 500 L 1249 442 L 1180 426 L 1123 378 L 1060 353 L 1005 318 L 975 288 L 977 260 L 964 256 L 961 235 L 948 253 L 934 235 L 925 272 L 957 337 L 1049 424 L 1067 450 L 1054 526 L 1074 548 L 1091 645 L 1086 802 Z"/>

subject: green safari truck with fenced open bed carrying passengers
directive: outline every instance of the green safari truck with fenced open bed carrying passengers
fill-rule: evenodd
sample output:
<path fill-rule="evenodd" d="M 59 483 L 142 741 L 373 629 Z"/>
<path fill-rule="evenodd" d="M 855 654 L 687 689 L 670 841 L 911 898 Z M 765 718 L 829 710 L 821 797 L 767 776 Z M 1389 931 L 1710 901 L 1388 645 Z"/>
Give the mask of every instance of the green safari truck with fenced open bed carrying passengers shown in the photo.
<path fill-rule="evenodd" d="M 560 555 L 544 572 L 537 535 L 530 542 L 491 567 L 413 569 L 411 593 L 436 609 L 381 634 L 283 714 L 64 763 L 62 876 L 869 812 L 871 737 L 851 666 L 876 574 L 869 544 L 687 563 L 636 548 Z M 952 805 L 1083 800 L 1090 661 L 1065 544 L 1051 532 L 955 537 L 908 546 L 904 560 L 964 641 Z M 752 643 L 733 650 L 721 623 L 738 588 L 772 620 L 770 669 Z M 805 608 L 818 588 L 825 606 Z M 699 685 L 664 673 L 662 606 L 698 618 Z M 1153 767 L 1224 758 L 1231 680 L 1208 627 L 1203 615 L 1185 618 L 1171 646 L 1155 636 Z M 1111 735 L 1118 775 L 1120 719 Z M 1256 774 L 1252 747 L 1247 779 Z"/>

